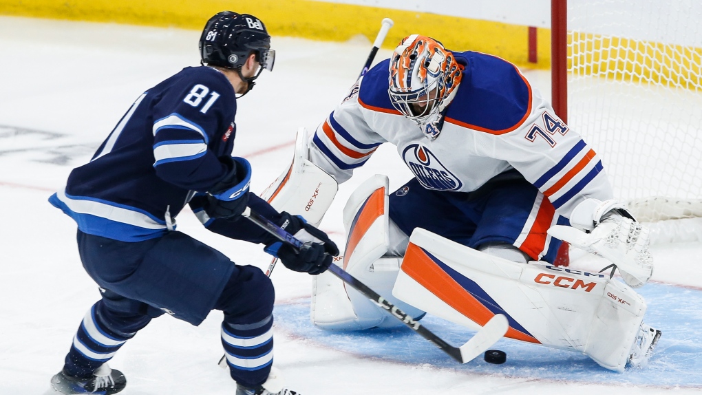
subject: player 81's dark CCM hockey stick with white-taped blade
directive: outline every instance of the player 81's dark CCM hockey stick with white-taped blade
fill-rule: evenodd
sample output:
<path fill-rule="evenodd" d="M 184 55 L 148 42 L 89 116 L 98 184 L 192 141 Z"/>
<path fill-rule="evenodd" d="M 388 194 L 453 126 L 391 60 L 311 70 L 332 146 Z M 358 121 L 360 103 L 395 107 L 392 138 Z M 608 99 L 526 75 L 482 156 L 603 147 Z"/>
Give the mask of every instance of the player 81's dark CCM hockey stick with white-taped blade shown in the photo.
<path fill-rule="evenodd" d="M 299 241 L 293 235 L 285 232 L 284 229 L 281 229 L 273 222 L 270 222 L 270 220 L 267 220 L 267 218 L 251 211 L 250 208 L 246 208 L 243 215 L 248 217 L 249 220 L 259 227 L 265 229 L 266 232 L 269 232 L 273 236 L 277 237 L 277 239 L 280 241 L 289 243 L 291 246 L 293 246 L 293 248 L 296 248 L 296 250 L 300 250 L 300 248 L 305 246 L 302 241 Z M 461 347 L 453 347 L 451 344 L 442 340 L 441 337 L 438 337 L 432 333 L 432 331 L 423 327 L 417 321 L 414 321 L 411 316 L 402 312 L 402 310 L 395 307 L 395 305 L 388 302 L 388 300 L 385 300 L 384 297 L 380 296 L 374 290 L 371 290 L 371 288 L 366 286 L 366 284 L 362 283 L 351 274 L 348 274 L 344 269 L 336 265 L 330 265 L 329 271 L 341 279 L 341 281 L 347 283 L 349 286 L 355 288 L 364 296 L 368 297 L 371 301 L 378 304 L 379 307 L 387 310 L 388 314 L 391 314 L 395 318 L 402 321 L 402 323 L 409 326 L 409 328 L 424 337 L 426 340 L 434 343 L 437 347 L 439 347 L 439 349 L 442 349 L 443 352 L 449 354 L 449 356 L 456 359 L 456 361 L 460 363 L 471 361 L 479 354 L 485 352 L 487 349 L 489 349 L 489 347 L 495 344 L 495 342 L 500 340 L 500 338 L 507 333 L 509 328 L 507 318 L 505 318 L 503 314 L 496 314 L 485 324 L 485 326 L 483 326 L 473 337 L 471 337 L 468 342 L 463 344 Z"/>

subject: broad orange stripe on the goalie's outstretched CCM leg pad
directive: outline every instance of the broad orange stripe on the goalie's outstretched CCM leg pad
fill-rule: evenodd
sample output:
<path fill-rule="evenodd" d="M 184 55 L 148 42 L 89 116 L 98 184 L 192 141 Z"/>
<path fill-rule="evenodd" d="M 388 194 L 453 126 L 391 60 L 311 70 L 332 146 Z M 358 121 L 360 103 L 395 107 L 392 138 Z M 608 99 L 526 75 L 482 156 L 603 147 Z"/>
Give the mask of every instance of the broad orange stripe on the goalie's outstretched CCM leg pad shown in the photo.
<path fill-rule="evenodd" d="M 495 315 L 484 304 L 468 293 L 456 280 L 444 272 L 422 248 L 409 243 L 402 260 L 402 272 L 420 283 L 439 299 L 471 321 L 484 326 Z M 540 344 L 534 337 L 510 327 L 505 337 Z"/>

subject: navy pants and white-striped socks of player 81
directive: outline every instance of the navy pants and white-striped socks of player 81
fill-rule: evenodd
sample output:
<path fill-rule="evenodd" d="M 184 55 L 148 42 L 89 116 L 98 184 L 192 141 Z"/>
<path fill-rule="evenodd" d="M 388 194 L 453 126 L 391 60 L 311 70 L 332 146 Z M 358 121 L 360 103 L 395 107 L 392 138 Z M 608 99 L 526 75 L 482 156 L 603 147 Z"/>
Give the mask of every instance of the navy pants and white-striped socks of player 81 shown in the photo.
<path fill-rule="evenodd" d="M 257 267 L 240 266 L 181 232 L 126 243 L 78 232 L 86 272 L 102 299 L 81 322 L 65 369 L 90 377 L 151 319 L 164 313 L 197 326 L 224 312 L 222 342 L 232 378 L 263 384 L 272 365 L 274 290 Z"/>

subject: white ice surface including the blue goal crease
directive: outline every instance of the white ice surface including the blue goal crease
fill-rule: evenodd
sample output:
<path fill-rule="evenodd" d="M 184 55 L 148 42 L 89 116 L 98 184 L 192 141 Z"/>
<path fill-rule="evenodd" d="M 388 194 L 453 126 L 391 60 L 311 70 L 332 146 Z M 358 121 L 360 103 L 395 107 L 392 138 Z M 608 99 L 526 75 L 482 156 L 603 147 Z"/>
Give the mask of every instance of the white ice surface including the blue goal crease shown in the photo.
<path fill-rule="evenodd" d="M 0 395 L 51 394 L 87 309 L 100 296 L 81 267 L 76 225 L 47 198 L 70 170 L 88 161 L 133 100 L 199 62 L 199 32 L 85 22 L 0 18 Z M 355 81 L 371 44 L 274 37 L 274 72 L 264 72 L 238 102 L 234 154 L 253 166 L 251 189 L 262 192 L 293 155 L 296 129 L 314 129 Z M 380 51 L 378 58 L 389 55 Z M 548 72 L 524 70 L 548 96 Z M 341 209 L 375 173 L 390 187 L 411 177 L 394 147 L 381 146 L 340 186 L 322 229 L 343 245 Z M 261 246 L 208 232 L 184 210 L 178 229 L 218 248 L 239 264 L 265 269 Z M 650 319 L 662 326 L 658 352 L 645 369 L 610 373 L 586 357 L 498 343 L 508 363 L 453 363 L 406 330 L 325 333 L 307 319 L 311 278 L 280 266 L 276 288 L 275 360 L 288 387 L 315 394 L 687 394 L 702 389 L 702 265 L 698 243 L 654 247 L 656 272 L 642 288 Z M 572 266 L 607 264 L 572 252 Z M 197 265 L 197 262 L 193 262 Z M 672 284 L 672 285 L 665 285 Z M 110 362 L 128 378 L 125 395 L 234 394 L 218 368 L 223 354 L 220 312 L 199 327 L 170 316 L 155 319 Z M 470 333 L 428 317 L 453 344 Z"/>

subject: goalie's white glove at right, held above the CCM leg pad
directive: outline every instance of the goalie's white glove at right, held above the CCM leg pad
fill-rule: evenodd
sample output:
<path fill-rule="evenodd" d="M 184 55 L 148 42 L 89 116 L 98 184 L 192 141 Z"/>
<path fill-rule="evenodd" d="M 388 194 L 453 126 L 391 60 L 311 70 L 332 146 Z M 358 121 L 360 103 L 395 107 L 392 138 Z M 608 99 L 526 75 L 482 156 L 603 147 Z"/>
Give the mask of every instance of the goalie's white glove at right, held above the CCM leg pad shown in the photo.
<path fill-rule="evenodd" d="M 653 274 L 649 229 L 614 200 L 586 199 L 570 218 L 571 227 L 555 225 L 548 234 L 614 264 L 625 283 L 643 286 Z"/>

